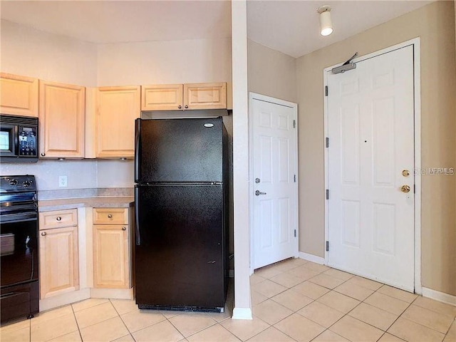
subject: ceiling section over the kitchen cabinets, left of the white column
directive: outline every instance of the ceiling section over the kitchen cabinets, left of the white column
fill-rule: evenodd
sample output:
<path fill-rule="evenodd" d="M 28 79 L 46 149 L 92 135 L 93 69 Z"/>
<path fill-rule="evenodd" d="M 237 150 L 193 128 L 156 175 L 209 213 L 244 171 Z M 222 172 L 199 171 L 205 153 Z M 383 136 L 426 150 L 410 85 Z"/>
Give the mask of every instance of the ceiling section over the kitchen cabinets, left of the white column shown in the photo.
<path fill-rule="evenodd" d="M 92 43 L 231 36 L 231 1 L 4 1 L 1 19 Z"/>

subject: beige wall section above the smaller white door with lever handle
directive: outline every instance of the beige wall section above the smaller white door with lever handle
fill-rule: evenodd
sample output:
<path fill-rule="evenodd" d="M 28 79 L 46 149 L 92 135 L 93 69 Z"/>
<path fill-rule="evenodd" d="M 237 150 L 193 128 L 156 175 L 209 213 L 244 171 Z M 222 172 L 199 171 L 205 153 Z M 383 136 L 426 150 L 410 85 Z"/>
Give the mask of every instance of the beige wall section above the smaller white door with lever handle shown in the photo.
<path fill-rule="evenodd" d="M 296 58 L 247 40 L 249 91 L 296 103 Z"/>

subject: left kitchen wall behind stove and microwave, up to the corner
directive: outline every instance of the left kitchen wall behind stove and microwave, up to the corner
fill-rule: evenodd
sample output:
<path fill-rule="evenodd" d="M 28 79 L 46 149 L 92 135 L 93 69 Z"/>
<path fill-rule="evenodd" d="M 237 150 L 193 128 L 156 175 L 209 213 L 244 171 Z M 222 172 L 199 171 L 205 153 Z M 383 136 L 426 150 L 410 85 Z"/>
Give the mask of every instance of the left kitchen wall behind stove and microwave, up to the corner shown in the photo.
<path fill-rule="evenodd" d="M 48 81 L 96 86 L 95 44 L 4 20 L 1 21 L 0 28 L 2 72 Z M 59 189 L 59 175 L 68 176 L 66 189 L 96 187 L 96 171 L 95 160 L 40 160 L 37 163 L 1 164 L 1 175 L 35 175 L 38 190 Z"/>

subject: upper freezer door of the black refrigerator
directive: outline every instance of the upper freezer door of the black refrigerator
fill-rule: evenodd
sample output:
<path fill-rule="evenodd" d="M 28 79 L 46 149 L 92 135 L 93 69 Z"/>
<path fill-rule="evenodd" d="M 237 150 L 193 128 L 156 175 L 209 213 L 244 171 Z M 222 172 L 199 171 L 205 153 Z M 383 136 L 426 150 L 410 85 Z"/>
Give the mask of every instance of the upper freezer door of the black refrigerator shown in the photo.
<path fill-rule="evenodd" d="M 223 182 L 222 139 L 221 118 L 140 120 L 137 182 Z"/>

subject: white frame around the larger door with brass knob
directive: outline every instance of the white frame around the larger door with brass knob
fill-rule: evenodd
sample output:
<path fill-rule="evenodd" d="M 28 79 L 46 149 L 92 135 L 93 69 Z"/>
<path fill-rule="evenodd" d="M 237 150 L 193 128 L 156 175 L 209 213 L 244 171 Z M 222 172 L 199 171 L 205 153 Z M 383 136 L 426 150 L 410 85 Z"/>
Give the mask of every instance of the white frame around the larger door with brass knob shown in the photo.
<path fill-rule="evenodd" d="M 404 48 L 405 46 L 413 46 L 413 78 L 414 78 L 414 90 L 413 90 L 413 100 L 414 100 L 414 150 L 415 150 L 415 165 L 414 165 L 414 176 L 415 176 L 415 193 L 414 193 L 414 202 L 415 202 L 415 217 L 414 217 L 414 227 L 415 227 L 415 276 L 414 276 L 414 286 L 415 294 L 422 294 L 422 285 L 421 285 L 421 172 L 417 172 L 421 167 L 421 73 L 420 73 L 420 37 L 410 39 L 409 41 L 404 41 L 388 48 L 383 48 L 379 51 L 373 53 L 368 53 L 367 55 L 355 58 L 354 63 L 359 61 L 364 61 L 369 58 L 380 56 L 384 53 L 398 50 L 399 48 Z M 338 63 L 334 66 L 329 66 L 328 68 L 323 69 L 323 110 L 324 110 L 324 134 L 325 138 L 328 137 L 328 97 L 325 95 L 325 88 L 328 86 L 328 72 L 336 66 L 341 66 L 341 63 Z M 328 189 L 328 149 L 324 145 L 324 164 L 325 164 L 325 189 Z M 328 241 L 328 201 L 325 199 L 325 241 Z M 328 264 L 328 252 L 325 249 L 325 264 Z"/>

